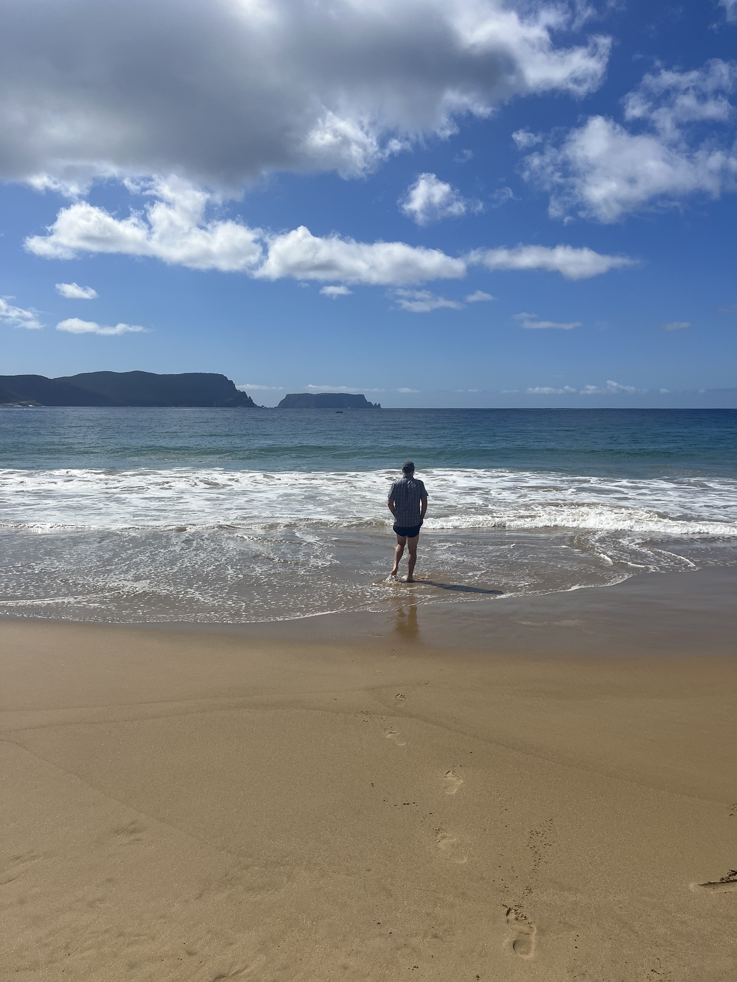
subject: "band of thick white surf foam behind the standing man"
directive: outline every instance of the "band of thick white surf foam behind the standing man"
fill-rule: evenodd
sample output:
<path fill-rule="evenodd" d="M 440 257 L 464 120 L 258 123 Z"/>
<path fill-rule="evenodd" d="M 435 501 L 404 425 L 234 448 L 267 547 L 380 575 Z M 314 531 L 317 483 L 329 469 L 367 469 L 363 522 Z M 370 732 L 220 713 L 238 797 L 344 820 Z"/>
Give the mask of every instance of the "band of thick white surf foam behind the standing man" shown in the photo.
<path fill-rule="evenodd" d="M 378 527 L 394 471 L 0 470 L 0 523 L 37 529 Z M 423 474 L 425 529 L 737 536 L 737 481 L 504 469 Z"/>

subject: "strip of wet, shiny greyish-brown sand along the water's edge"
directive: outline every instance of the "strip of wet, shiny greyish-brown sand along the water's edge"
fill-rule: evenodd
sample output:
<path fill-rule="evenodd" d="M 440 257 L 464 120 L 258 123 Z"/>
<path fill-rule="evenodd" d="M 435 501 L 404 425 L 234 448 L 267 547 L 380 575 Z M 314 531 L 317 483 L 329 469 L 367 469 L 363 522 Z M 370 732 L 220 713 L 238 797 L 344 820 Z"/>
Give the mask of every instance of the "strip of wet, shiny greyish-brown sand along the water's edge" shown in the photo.
<path fill-rule="evenodd" d="M 446 588 L 452 589 L 452 584 Z M 332 611 L 273 621 L 221 623 L 98 622 L 0 614 L 0 628 L 4 624 L 115 627 L 311 643 L 355 643 L 398 636 L 405 642 L 430 647 L 575 652 L 582 656 L 594 644 L 598 653 L 606 650 L 616 655 L 625 637 L 629 642 L 631 634 L 639 633 L 647 635 L 649 650 L 693 653 L 704 645 L 714 654 L 737 650 L 737 614 L 733 610 L 737 566 L 633 573 L 605 585 L 523 596 L 501 594 L 455 603 L 420 600 L 422 579 L 412 585 L 400 582 L 393 589 L 390 611 Z M 623 607 L 627 610 L 626 624 L 620 617 Z M 530 629 L 540 627 L 545 629 Z M 557 629 L 551 632 L 550 627 Z"/>

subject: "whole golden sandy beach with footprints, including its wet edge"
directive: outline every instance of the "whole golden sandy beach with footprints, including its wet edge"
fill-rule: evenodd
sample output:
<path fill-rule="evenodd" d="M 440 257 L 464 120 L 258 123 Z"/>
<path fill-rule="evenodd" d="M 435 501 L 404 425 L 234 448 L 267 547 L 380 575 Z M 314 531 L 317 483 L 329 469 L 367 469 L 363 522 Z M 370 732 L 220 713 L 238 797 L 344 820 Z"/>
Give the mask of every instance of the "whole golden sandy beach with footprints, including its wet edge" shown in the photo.
<path fill-rule="evenodd" d="M 0 978 L 734 982 L 735 581 L 0 622 Z"/>

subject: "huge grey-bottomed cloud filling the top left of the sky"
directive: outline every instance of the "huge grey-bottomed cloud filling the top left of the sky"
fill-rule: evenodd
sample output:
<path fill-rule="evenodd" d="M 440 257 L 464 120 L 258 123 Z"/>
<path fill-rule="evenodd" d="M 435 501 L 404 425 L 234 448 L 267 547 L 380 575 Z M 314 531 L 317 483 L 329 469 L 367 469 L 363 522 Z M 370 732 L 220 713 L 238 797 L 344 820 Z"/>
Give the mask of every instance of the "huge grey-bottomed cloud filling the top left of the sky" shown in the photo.
<path fill-rule="evenodd" d="M 541 0 L 25 0 L 0 34 L 0 177 L 362 174 L 514 95 L 575 96 L 607 38 Z M 60 182 L 62 183 L 60 185 Z"/>

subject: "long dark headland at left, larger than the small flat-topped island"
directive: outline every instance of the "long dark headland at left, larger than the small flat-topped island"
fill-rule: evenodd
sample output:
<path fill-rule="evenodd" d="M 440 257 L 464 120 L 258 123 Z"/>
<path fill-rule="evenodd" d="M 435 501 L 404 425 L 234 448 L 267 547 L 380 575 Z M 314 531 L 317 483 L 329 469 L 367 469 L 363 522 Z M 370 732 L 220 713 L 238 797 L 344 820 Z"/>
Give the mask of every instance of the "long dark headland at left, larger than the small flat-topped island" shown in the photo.
<path fill-rule="evenodd" d="M 91 371 L 46 378 L 0 375 L 0 406 L 148 406 L 257 409 L 225 375 L 150 371 Z"/>

